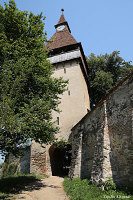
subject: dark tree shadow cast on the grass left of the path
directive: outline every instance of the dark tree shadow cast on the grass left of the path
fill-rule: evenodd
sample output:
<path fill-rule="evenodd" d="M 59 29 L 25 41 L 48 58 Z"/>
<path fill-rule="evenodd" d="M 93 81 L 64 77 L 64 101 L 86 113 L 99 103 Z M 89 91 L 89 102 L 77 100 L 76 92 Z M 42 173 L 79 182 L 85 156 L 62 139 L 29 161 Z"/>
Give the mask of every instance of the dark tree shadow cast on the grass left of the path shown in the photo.
<path fill-rule="evenodd" d="M 4 193 L 5 199 L 7 198 L 6 194 L 17 194 L 21 190 L 39 190 L 42 187 L 46 186 L 43 183 L 41 183 L 39 179 L 32 175 L 21 175 L 16 177 L 7 177 L 0 179 L 0 193 Z"/>

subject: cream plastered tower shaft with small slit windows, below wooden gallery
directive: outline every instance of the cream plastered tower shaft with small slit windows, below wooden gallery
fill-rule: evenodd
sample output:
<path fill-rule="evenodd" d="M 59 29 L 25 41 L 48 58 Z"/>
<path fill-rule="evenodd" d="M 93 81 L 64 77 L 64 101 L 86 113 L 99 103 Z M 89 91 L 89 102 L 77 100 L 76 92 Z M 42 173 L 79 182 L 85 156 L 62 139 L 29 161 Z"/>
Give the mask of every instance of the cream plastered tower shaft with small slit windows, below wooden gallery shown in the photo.
<path fill-rule="evenodd" d="M 65 68 L 65 71 L 64 71 Z M 53 120 L 59 117 L 60 132 L 58 139 L 69 139 L 71 128 L 90 110 L 86 82 L 77 60 L 56 64 L 54 77 L 69 80 L 68 91 L 61 95 L 60 113 L 53 112 Z"/>

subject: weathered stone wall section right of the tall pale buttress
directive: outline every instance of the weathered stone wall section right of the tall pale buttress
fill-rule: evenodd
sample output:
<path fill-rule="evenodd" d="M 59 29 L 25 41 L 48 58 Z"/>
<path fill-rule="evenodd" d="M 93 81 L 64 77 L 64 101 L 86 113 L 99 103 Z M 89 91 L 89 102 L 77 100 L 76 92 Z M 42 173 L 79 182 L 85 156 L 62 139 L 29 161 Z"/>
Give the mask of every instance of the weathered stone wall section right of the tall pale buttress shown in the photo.
<path fill-rule="evenodd" d="M 133 185 L 133 73 L 107 98 L 113 179 Z"/>

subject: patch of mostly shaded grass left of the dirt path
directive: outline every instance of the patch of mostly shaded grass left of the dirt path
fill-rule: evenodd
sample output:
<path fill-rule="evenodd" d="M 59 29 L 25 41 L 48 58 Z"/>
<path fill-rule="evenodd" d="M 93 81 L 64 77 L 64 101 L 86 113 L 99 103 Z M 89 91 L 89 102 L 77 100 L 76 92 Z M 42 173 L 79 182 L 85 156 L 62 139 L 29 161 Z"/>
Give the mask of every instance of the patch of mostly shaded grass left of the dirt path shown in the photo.
<path fill-rule="evenodd" d="M 17 174 L 13 176 L 8 176 L 0 178 L 0 199 L 10 200 L 13 199 L 14 194 L 18 194 L 21 190 L 34 190 L 35 188 L 39 189 L 41 184 L 36 186 L 30 186 L 30 183 L 35 181 L 40 181 L 42 178 L 45 178 L 44 175 L 35 175 L 35 174 Z"/>

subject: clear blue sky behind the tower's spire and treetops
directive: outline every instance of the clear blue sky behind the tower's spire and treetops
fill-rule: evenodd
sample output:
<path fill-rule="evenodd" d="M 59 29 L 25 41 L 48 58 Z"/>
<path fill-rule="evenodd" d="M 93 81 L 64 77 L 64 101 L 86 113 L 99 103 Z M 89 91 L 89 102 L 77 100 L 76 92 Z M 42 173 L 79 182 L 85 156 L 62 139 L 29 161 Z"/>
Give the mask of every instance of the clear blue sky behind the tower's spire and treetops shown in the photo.
<path fill-rule="evenodd" d="M 4 4 L 8 0 L 0 0 Z M 72 35 L 85 55 L 120 51 L 133 61 L 133 0 L 16 0 L 20 10 L 43 12 L 48 39 L 54 34 L 61 8 Z"/>

